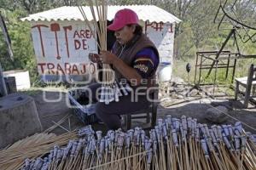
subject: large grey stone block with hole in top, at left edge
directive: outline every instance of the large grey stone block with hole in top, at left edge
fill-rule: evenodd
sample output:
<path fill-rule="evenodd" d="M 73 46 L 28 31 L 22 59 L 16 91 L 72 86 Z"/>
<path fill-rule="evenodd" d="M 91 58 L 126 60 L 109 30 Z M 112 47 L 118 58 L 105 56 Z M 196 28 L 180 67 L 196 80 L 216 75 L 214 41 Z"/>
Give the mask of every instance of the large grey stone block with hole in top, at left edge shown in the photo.
<path fill-rule="evenodd" d="M 9 94 L 0 99 L 0 106 L 0 148 L 42 131 L 32 97 Z"/>

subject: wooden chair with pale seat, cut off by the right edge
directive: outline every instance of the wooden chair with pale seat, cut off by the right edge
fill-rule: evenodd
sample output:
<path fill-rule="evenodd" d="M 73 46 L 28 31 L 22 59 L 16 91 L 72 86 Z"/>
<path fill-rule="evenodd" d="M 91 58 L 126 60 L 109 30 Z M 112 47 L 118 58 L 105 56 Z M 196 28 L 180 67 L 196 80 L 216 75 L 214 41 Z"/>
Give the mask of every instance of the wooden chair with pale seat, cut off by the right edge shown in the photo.
<path fill-rule="evenodd" d="M 251 65 L 248 70 L 248 76 L 247 77 L 240 77 L 236 78 L 236 91 L 235 91 L 235 99 L 237 97 L 241 97 L 241 99 L 244 100 L 244 107 L 248 107 L 248 103 L 250 99 L 253 99 L 253 93 L 255 92 L 256 88 L 256 66 Z M 242 86 L 245 88 L 245 91 L 241 91 L 239 89 L 239 86 Z M 252 93 L 253 91 L 253 93 Z"/>

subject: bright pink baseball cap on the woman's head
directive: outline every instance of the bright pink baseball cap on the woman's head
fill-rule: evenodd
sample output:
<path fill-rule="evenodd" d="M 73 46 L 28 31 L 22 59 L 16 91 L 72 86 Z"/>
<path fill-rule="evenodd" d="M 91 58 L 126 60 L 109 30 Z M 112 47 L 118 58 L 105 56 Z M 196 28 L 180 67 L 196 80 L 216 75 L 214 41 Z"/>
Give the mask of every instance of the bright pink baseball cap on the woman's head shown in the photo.
<path fill-rule="evenodd" d="M 119 10 L 113 19 L 113 23 L 108 26 L 108 30 L 118 31 L 129 24 L 138 24 L 139 20 L 137 14 L 130 8 Z"/>

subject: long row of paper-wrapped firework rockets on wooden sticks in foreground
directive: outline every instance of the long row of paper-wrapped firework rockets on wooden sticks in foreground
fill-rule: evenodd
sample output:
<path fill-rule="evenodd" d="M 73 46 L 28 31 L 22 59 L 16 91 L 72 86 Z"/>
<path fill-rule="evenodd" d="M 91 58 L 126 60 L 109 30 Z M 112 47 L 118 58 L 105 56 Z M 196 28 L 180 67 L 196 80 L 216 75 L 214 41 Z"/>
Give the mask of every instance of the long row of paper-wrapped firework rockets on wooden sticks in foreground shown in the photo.
<path fill-rule="evenodd" d="M 241 127 L 207 127 L 196 119 L 167 116 L 149 135 L 140 127 L 108 131 L 102 136 L 90 126 L 80 139 L 57 146 L 47 155 L 26 160 L 29 169 L 249 169 L 256 168 L 256 139 Z"/>

